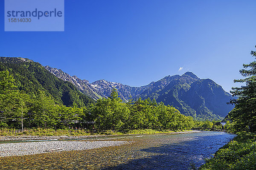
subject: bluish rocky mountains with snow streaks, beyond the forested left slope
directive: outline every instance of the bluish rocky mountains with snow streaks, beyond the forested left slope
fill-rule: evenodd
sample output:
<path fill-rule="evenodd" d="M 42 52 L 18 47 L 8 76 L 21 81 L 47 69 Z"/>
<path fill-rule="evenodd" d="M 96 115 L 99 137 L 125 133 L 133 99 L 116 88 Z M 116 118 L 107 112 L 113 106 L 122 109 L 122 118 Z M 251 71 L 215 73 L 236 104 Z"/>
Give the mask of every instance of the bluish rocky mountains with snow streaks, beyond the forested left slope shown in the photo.
<path fill-rule="evenodd" d="M 89 83 L 76 76 L 70 76 L 60 69 L 45 67 L 56 77 L 73 83 L 81 92 L 93 99 L 110 96 L 111 89 L 116 88 L 120 98 L 127 102 L 132 99 L 150 98 L 165 105 L 173 105 L 180 113 L 198 119 L 221 119 L 232 109 L 226 103 L 232 96 L 211 79 L 200 79 L 192 72 L 183 75 L 166 76 L 157 82 L 151 82 L 141 87 L 131 87 L 117 82 L 97 80 Z M 98 96 L 96 95 L 98 94 Z"/>

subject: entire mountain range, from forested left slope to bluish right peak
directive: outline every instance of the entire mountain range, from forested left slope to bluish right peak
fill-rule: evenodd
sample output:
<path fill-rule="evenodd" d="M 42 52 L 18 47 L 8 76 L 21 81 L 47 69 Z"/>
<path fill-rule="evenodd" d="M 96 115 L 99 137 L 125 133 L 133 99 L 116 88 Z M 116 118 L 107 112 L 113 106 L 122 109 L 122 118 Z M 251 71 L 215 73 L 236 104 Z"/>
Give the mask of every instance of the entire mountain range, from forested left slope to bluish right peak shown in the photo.
<path fill-rule="evenodd" d="M 124 102 L 138 98 L 155 99 L 197 119 L 221 119 L 234 107 L 226 104 L 232 96 L 220 85 L 211 79 L 200 79 L 192 72 L 166 76 L 141 87 L 131 87 L 104 79 L 90 83 L 70 76 L 61 69 L 42 66 L 21 57 L 0 57 L 0 71 L 3 70 L 9 70 L 21 91 L 33 95 L 41 90 L 67 106 L 86 106 L 110 96 L 111 89 L 116 88 Z"/>

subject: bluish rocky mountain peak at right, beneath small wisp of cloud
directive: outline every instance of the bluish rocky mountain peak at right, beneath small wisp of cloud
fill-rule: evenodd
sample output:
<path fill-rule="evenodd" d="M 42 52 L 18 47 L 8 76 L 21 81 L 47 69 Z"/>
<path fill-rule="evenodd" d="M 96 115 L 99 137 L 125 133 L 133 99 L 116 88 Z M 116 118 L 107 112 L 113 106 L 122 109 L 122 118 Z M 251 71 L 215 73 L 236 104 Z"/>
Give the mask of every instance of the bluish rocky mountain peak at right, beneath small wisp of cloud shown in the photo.
<path fill-rule="evenodd" d="M 173 105 L 180 113 L 201 119 L 220 119 L 219 116 L 225 117 L 233 109 L 233 105 L 227 105 L 232 96 L 220 85 L 211 79 L 199 79 L 191 72 L 164 77 L 143 91 L 140 97 Z"/>

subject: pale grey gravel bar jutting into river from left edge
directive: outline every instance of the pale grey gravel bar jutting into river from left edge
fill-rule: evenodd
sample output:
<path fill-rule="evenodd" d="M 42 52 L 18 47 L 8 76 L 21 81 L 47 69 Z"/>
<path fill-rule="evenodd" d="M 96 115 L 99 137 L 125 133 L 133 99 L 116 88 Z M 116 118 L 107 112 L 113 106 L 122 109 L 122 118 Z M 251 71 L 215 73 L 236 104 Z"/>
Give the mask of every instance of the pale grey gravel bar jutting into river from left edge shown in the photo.
<path fill-rule="evenodd" d="M 0 157 L 21 156 L 51 151 L 88 150 L 126 144 L 126 141 L 41 141 L 0 143 Z"/>

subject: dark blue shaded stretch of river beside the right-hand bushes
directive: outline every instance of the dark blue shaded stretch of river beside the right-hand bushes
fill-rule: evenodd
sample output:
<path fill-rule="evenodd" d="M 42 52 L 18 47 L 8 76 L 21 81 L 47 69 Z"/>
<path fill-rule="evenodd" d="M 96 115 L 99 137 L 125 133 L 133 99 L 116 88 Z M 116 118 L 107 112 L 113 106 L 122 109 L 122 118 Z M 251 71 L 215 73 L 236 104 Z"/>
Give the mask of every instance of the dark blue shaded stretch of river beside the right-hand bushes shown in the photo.
<path fill-rule="evenodd" d="M 191 164 L 200 167 L 204 164 L 204 159 L 210 158 L 219 147 L 229 141 L 230 136 L 226 135 L 200 136 L 178 144 L 143 148 L 140 151 L 157 155 L 134 159 L 103 170 L 189 170 Z"/>

